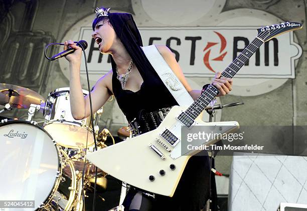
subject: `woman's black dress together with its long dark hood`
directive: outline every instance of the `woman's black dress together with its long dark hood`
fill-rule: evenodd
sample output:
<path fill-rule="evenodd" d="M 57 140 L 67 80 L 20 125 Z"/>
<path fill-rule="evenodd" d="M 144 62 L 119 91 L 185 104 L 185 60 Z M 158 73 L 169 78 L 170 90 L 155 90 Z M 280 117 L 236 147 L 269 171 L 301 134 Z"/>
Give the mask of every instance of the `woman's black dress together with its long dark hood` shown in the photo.
<path fill-rule="evenodd" d="M 143 53 L 140 47 L 143 46 L 142 39 L 132 15 L 126 13 L 110 13 L 108 18 L 117 37 L 131 56 L 144 81 L 140 90 L 136 92 L 123 90 L 120 82 L 116 78 L 116 64 L 111 56 L 114 96 L 128 122 L 133 121 L 135 118 L 143 132 L 152 130 L 161 122 L 156 115 L 157 111 L 162 108 L 170 108 L 178 103 Z M 150 117 L 154 124 L 143 124 L 141 121 L 146 117 Z M 199 211 L 204 207 L 209 196 L 210 174 L 208 156 L 193 156 L 187 163 L 174 196 L 167 197 L 156 194 L 155 199 L 148 199 L 151 203 L 151 208 L 148 207 L 145 210 Z M 211 176 L 211 181 L 213 187 L 215 187 L 214 176 Z M 129 200 L 134 194 L 135 192 L 133 191 L 128 192 L 124 201 L 125 210 L 128 210 L 129 202 L 131 202 Z M 215 209 L 213 208 L 212 210 Z"/>

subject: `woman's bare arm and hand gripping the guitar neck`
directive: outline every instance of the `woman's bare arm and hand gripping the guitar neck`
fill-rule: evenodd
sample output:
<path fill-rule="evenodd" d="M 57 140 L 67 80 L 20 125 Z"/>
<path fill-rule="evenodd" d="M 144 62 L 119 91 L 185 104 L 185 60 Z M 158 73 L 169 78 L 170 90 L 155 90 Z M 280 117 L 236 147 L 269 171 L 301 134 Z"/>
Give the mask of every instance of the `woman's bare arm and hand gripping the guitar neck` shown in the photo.
<path fill-rule="evenodd" d="M 165 59 L 165 61 L 168 63 L 168 65 L 171 67 L 173 72 L 176 74 L 176 76 L 179 78 L 179 80 L 182 82 L 182 84 L 185 86 L 187 91 L 190 93 L 192 98 L 196 100 L 200 94 L 201 90 L 193 90 L 191 86 L 189 85 L 187 79 L 185 78 L 183 71 L 178 64 L 178 62 L 175 59 L 175 56 L 173 52 L 167 47 L 167 46 L 157 46 L 159 52 Z M 217 96 L 223 96 L 232 89 L 232 79 L 231 78 L 219 78 L 221 75 L 220 72 L 216 73 L 215 78 L 212 80 L 212 83 L 219 89 L 220 93 Z"/>

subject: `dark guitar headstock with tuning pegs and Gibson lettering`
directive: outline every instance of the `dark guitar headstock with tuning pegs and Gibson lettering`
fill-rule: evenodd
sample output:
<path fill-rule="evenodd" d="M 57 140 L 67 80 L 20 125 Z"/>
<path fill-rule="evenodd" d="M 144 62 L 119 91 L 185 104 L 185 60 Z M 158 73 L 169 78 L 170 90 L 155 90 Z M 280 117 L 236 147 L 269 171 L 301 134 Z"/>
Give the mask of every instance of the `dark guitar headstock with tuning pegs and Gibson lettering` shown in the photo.
<path fill-rule="evenodd" d="M 286 23 L 261 27 L 257 29 L 258 31 L 257 37 L 266 42 L 280 34 L 283 34 L 285 32 L 290 32 L 293 30 L 299 30 L 301 28 L 302 24 L 296 22 L 286 22 Z"/>

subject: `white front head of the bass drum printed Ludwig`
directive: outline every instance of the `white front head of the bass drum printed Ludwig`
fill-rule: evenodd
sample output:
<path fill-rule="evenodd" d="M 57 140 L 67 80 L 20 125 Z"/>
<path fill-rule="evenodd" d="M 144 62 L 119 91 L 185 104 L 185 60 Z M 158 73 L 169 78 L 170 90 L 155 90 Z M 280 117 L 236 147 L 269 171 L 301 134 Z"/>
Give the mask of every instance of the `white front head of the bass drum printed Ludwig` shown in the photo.
<path fill-rule="evenodd" d="M 35 208 L 29 208 L 34 210 L 46 201 L 56 184 L 58 149 L 47 132 L 26 121 L 1 125 L 0 137 L 0 198 L 34 200 Z"/>

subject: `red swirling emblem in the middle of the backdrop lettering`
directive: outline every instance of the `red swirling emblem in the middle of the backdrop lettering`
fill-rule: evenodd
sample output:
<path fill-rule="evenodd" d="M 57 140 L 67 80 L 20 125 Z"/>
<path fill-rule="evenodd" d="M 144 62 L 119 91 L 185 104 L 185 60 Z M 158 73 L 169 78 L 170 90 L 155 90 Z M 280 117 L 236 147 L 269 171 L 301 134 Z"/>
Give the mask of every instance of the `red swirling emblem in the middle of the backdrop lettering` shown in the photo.
<path fill-rule="evenodd" d="M 220 33 L 218 33 L 218 32 L 215 32 L 215 31 L 213 31 L 215 34 L 217 34 L 217 36 L 219 36 L 219 38 L 220 38 L 220 40 L 221 40 L 221 48 L 220 48 L 220 55 L 218 56 L 218 57 L 216 57 L 216 58 L 214 58 L 214 59 L 211 59 L 211 61 L 223 61 L 223 59 L 224 59 L 224 56 L 227 54 L 227 51 L 225 52 L 225 53 L 222 53 L 223 52 L 223 50 L 226 48 L 226 44 L 227 44 L 227 42 L 226 42 L 226 39 L 225 39 L 225 37 L 223 36 L 223 35 L 221 35 Z M 210 71 L 212 71 L 212 72 L 215 72 L 214 70 L 213 70 L 213 68 L 211 67 L 211 65 L 210 65 L 210 63 L 209 63 L 209 57 L 210 57 L 210 53 L 211 53 L 211 47 L 212 46 L 215 46 L 216 44 L 219 44 L 219 43 L 213 43 L 213 42 L 208 42 L 207 43 L 207 46 L 204 48 L 204 52 L 206 51 L 206 50 L 208 50 L 207 52 L 206 52 L 206 54 L 205 54 L 205 56 L 204 56 L 204 64 L 206 65 L 206 67 L 210 70 Z"/>

